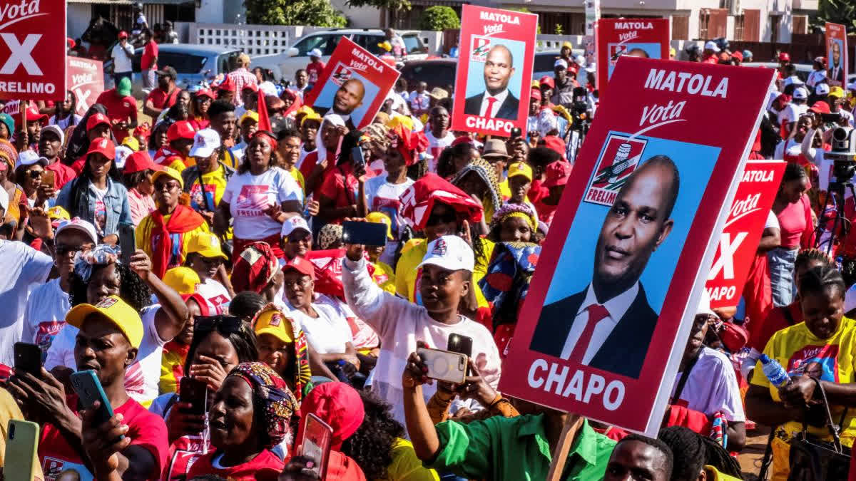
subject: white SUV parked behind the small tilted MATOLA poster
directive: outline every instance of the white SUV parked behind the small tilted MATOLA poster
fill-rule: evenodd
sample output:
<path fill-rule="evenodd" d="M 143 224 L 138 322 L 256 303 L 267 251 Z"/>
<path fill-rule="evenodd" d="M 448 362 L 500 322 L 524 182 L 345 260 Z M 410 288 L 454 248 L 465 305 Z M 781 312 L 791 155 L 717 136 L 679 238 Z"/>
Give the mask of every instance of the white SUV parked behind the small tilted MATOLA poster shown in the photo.
<path fill-rule="evenodd" d="M 399 32 L 407 48 L 405 61 L 421 60 L 428 55 L 425 46 L 419 40 L 416 32 Z M 304 35 L 294 42 L 288 50 L 270 55 L 259 55 L 251 58 L 250 67 L 268 68 L 276 80 L 294 80 L 294 72 L 306 68 L 309 64 L 309 52 L 312 49 L 321 50 L 322 61 L 330 60 L 333 50 L 339 44 L 339 39 L 346 37 L 355 44 L 379 56 L 383 50 L 378 44 L 385 36 L 379 29 L 336 28 Z"/>

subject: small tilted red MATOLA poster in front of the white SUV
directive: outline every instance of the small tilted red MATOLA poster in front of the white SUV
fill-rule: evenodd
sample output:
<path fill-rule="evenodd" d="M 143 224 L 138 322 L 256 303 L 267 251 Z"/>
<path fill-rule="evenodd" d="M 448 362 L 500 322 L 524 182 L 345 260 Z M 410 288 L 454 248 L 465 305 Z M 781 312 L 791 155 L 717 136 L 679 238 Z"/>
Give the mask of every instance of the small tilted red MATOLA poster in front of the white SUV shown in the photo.
<path fill-rule="evenodd" d="M 322 116 L 327 113 L 342 116 L 352 130 L 364 128 L 372 123 L 400 74 L 368 50 L 342 37 L 312 91 L 306 94 L 306 104 Z"/>

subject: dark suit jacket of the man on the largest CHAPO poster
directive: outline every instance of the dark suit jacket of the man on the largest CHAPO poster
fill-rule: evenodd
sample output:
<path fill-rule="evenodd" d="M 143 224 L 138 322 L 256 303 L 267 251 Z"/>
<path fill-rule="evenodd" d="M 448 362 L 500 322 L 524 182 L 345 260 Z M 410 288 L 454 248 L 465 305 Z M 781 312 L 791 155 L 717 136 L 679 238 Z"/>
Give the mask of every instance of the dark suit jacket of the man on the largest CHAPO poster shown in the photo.
<path fill-rule="evenodd" d="M 586 290 L 550 303 L 541 310 L 541 318 L 532 335 L 529 348 L 538 353 L 559 357 L 568 340 L 571 325 L 580 311 Z M 621 376 L 639 378 L 648 344 L 657 325 L 657 312 L 648 305 L 645 289 L 639 284 L 639 294 L 625 312 L 615 329 L 609 333 L 603 346 L 591 358 L 589 366 Z"/>

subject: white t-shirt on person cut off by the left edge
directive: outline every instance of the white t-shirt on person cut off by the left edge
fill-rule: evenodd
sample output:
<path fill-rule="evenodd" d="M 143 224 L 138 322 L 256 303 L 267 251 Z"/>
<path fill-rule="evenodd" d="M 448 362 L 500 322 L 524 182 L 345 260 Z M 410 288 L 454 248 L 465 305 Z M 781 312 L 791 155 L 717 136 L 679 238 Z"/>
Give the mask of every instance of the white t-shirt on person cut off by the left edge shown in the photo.
<path fill-rule="evenodd" d="M 47 280 L 53 259 L 23 242 L 0 241 L 0 266 L 0 363 L 11 366 L 12 345 L 21 341 L 27 300 Z"/>

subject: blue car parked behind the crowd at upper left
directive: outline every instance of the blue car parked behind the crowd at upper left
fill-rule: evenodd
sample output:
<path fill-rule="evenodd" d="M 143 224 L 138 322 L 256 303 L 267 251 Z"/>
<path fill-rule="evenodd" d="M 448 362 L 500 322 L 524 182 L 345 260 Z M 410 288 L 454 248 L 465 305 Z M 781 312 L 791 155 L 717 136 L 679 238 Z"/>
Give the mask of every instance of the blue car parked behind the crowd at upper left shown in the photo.
<path fill-rule="evenodd" d="M 241 50 L 226 49 L 218 45 L 162 44 L 158 45 L 158 67 L 169 65 L 175 68 L 175 73 L 178 74 L 175 85 L 187 88 L 203 80 L 212 80 L 217 74 L 228 74 L 235 68 L 240 53 Z M 135 98 L 145 98 L 147 94 L 143 92 L 143 79 L 140 73 L 142 55 L 142 47 L 134 50 L 132 95 Z M 104 62 L 104 88 L 113 87 L 113 60 L 110 59 Z"/>

